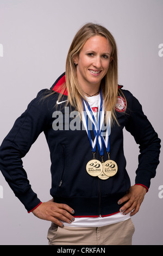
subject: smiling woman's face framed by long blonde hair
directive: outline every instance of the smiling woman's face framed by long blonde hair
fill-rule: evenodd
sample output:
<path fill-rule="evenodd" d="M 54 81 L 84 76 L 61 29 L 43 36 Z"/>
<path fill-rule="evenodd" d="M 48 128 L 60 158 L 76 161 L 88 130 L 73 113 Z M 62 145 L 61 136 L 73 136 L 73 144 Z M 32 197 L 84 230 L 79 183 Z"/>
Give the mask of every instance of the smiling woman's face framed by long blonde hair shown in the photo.
<path fill-rule="evenodd" d="M 104 36 L 95 35 L 85 42 L 79 56 L 74 59 L 78 81 L 83 90 L 92 86 L 99 89 L 109 68 L 111 51 L 111 45 Z"/>

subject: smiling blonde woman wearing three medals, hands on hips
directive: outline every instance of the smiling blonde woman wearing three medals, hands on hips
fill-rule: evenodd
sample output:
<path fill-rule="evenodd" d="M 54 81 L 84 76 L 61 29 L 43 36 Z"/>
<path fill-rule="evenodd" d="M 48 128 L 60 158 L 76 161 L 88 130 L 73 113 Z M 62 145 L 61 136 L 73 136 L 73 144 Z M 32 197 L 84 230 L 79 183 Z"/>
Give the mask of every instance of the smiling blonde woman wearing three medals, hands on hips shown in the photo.
<path fill-rule="evenodd" d="M 123 154 L 124 127 L 140 144 L 134 186 Z M 21 161 L 42 131 L 52 161 L 53 199 L 44 203 Z M 160 139 L 139 101 L 118 86 L 113 36 L 87 23 L 72 41 L 66 73 L 51 90 L 41 90 L 4 139 L 1 171 L 27 211 L 52 222 L 49 245 L 131 245 L 130 216 L 139 211 L 159 153 Z"/>

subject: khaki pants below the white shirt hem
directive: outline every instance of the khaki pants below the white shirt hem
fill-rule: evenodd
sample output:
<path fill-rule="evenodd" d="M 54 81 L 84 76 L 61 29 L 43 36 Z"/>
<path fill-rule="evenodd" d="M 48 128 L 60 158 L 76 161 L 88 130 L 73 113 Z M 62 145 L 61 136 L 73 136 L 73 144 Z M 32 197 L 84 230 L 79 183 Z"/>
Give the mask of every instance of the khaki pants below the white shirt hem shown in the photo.
<path fill-rule="evenodd" d="M 130 218 L 99 228 L 60 228 L 52 223 L 47 238 L 49 245 L 131 245 L 134 231 Z"/>

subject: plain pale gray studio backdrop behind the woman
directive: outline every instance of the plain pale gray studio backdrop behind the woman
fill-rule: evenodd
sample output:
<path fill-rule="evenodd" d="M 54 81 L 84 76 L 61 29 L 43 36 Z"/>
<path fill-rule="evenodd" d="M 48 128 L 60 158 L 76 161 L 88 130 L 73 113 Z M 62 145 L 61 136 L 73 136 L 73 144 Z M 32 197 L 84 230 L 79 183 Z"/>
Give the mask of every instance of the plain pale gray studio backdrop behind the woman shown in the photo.
<path fill-rule="evenodd" d="M 74 34 L 86 22 L 104 25 L 118 47 L 118 82 L 143 105 L 162 138 L 162 0 L 0 0 L 0 143 L 15 119 L 65 71 Z M 124 131 L 124 152 L 134 184 L 139 147 Z M 33 190 L 51 199 L 49 151 L 43 134 L 23 159 Z M 139 213 L 133 245 L 162 245 L 162 154 Z M 48 221 L 28 214 L 0 172 L 0 245 L 47 245 Z"/>

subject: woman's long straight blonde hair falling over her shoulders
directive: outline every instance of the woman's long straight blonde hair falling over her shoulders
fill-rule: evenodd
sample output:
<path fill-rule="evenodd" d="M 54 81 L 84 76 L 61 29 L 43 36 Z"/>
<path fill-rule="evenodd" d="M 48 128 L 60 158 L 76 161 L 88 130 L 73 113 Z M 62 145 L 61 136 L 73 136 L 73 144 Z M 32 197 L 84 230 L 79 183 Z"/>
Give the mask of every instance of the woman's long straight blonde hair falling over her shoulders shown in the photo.
<path fill-rule="evenodd" d="M 79 52 L 84 46 L 85 42 L 95 35 L 104 36 L 109 41 L 112 48 L 111 62 L 109 64 L 108 72 L 101 82 L 101 89 L 105 113 L 111 112 L 111 120 L 116 120 L 115 105 L 118 96 L 117 46 L 114 37 L 105 27 L 94 23 L 86 23 L 74 36 L 67 54 L 66 83 L 62 84 L 62 92 L 67 89 L 67 104 L 70 103 L 71 106 L 76 108 L 81 117 L 81 113 L 83 111 L 82 97 L 85 99 L 85 96 L 78 82 L 74 58 L 79 56 Z M 61 96 L 62 95 L 60 95 L 60 97 Z"/>

